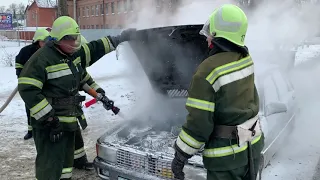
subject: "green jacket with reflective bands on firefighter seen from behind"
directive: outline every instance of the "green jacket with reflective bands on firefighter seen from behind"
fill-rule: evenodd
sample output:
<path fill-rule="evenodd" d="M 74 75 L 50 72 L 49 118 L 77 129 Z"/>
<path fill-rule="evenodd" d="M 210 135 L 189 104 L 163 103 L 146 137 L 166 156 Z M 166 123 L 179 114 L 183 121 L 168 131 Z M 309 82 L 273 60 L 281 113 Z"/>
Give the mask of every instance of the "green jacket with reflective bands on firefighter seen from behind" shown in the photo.
<path fill-rule="evenodd" d="M 247 143 L 239 147 L 236 139 L 214 137 L 215 126 L 242 124 L 259 111 L 251 56 L 225 40 L 221 43 L 233 48 L 214 47 L 197 68 L 188 90 L 187 121 L 176 141 L 178 150 L 190 156 L 204 146 L 203 163 L 211 171 L 248 164 Z M 251 143 L 253 156 L 258 158 L 264 146 L 263 134 Z"/>

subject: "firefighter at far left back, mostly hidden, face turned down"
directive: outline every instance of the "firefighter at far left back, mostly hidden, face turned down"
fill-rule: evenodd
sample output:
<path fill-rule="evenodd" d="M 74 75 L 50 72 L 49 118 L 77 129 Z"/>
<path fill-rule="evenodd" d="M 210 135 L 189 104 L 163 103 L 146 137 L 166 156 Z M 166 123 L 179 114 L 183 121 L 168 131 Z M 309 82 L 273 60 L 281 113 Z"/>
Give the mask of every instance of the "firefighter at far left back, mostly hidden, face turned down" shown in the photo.
<path fill-rule="evenodd" d="M 49 37 L 49 32 L 44 29 L 38 29 L 32 38 L 32 44 L 23 47 L 19 54 L 16 56 L 15 59 L 15 68 L 16 68 L 16 75 L 19 78 L 21 70 L 24 64 L 29 60 L 29 58 L 41 47 L 44 46 L 45 40 Z M 32 138 L 32 126 L 30 125 L 30 111 L 26 107 L 26 113 L 28 118 L 28 132 L 24 136 L 24 140 L 28 140 Z"/>

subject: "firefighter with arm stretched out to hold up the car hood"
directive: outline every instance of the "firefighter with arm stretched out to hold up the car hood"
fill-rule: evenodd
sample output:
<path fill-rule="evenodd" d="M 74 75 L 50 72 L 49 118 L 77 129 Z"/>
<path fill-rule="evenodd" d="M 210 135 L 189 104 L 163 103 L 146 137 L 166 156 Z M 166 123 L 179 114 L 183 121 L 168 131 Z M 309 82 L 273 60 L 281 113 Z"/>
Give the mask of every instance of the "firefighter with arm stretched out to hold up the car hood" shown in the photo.
<path fill-rule="evenodd" d="M 133 32 L 129 29 L 81 46 L 78 24 L 61 16 L 53 22 L 49 42 L 25 64 L 18 90 L 30 109 L 38 180 L 71 179 L 78 122 L 87 126 L 81 108 L 85 97 L 79 95 L 85 68 L 130 40 Z"/>

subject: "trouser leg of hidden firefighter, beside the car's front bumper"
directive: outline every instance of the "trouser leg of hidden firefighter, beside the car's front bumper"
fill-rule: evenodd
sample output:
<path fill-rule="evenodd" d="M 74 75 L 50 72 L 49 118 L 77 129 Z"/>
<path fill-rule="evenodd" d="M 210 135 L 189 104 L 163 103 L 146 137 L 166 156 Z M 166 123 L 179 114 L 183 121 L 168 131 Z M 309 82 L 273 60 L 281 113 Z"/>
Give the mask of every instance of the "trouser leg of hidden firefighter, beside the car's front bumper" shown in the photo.
<path fill-rule="evenodd" d="M 74 150 L 74 164 L 73 167 L 81 168 L 88 162 L 87 155 L 84 150 L 83 138 L 80 128 L 75 132 L 75 150 Z"/>

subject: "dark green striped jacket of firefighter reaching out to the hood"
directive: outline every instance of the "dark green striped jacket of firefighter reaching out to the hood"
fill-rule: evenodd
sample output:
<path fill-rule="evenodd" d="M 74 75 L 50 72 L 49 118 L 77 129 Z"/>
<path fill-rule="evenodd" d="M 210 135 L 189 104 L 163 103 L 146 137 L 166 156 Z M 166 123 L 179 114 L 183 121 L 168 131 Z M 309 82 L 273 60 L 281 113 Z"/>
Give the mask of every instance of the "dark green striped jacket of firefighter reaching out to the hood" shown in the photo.
<path fill-rule="evenodd" d="M 31 125 L 43 128 L 43 122 L 56 116 L 65 131 L 87 126 L 79 90 L 82 84 L 98 86 L 85 68 L 114 50 L 108 38 L 82 45 L 72 56 L 62 53 L 52 42 L 39 49 L 25 64 L 18 79 L 19 93 L 31 112 Z"/>

